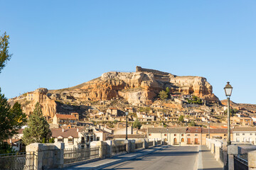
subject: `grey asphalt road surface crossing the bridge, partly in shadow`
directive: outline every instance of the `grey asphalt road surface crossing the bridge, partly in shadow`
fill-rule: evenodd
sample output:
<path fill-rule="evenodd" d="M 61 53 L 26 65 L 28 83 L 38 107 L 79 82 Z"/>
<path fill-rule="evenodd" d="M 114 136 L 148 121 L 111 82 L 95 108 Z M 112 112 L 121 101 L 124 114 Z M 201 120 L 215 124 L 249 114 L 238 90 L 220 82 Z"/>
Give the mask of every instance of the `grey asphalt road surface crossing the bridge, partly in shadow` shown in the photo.
<path fill-rule="evenodd" d="M 197 154 L 198 147 L 166 147 L 143 157 L 114 164 L 104 169 L 193 170 Z"/>

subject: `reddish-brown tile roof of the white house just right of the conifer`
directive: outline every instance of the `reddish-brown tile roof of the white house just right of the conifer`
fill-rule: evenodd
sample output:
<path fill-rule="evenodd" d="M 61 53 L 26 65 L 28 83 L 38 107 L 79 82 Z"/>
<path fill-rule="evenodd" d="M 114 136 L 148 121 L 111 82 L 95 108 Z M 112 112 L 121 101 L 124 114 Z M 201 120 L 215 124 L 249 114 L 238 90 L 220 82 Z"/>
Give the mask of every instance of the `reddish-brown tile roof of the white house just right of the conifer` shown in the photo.
<path fill-rule="evenodd" d="M 63 129 L 51 129 L 52 131 L 52 137 L 64 137 L 64 138 L 67 138 L 67 137 L 74 137 L 74 138 L 78 138 L 78 131 L 80 132 L 82 130 L 82 128 L 73 128 L 73 129 L 64 129 L 64 132 L 63 132 Z"/>

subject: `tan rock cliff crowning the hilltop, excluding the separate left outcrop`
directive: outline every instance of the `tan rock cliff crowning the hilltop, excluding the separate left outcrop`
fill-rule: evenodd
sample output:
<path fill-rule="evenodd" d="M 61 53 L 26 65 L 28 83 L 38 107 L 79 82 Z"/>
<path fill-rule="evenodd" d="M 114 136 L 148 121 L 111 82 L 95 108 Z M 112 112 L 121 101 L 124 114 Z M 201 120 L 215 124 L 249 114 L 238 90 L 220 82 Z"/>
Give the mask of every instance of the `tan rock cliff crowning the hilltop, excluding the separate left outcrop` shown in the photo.
<path fill-rule="evenodd" d="M 73 96 L 80 101 L 124 98 L 129 103 L 151 104 L 159 91 L 169 87 L 171 93 L 193 94 L 218 102 L 212 86 L 203 77 L 177 77 L 154 69 L 137 67 L 137 72 L 107 72 L 101 77 L 70 89 L 51 94 Z"/>

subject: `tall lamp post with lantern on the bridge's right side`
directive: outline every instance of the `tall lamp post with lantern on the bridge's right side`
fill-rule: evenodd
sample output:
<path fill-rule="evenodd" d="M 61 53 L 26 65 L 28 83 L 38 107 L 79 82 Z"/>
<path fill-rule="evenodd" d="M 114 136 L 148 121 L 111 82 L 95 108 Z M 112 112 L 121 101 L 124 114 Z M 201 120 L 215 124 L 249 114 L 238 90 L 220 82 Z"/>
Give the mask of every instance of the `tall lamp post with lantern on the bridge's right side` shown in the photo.
<path fill-rule="evenodd" d="M 225 95 L 228 99 L 228 145 L 231 145 L 230 141 L 230 96 L 232 94 L 233 87 L 230 85 L 230 82 L 227 82 L 227 85 L 224 87 Z"/>

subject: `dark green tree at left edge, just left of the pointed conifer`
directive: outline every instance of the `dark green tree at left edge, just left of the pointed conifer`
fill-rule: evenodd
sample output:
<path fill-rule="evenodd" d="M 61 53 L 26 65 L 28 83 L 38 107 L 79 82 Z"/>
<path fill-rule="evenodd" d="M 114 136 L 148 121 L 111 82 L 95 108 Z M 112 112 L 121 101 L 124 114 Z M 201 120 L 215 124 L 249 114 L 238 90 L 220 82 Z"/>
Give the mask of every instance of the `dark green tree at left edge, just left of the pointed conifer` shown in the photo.
<path fill-rule="evenodd" d="M 18 133 L 18 130 L 25 125 L 26 115 L 22 113 L 21 105 L 16 102 L 13 108 L 7 103 L 7 98 L 1 94 L 0 89 L 0 145 L 4 140 L 9 139 Z M 1 147 L 1 146 L 0 146 Z"/>

